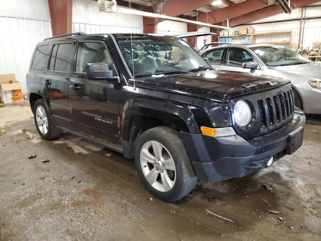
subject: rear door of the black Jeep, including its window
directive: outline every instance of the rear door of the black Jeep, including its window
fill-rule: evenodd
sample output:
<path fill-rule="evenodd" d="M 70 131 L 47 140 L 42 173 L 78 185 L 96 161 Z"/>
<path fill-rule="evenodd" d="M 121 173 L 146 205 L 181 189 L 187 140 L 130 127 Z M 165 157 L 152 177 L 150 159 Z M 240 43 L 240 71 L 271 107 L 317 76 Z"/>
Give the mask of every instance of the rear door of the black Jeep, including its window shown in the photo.
<path fill-rule="evenodd" d="M 43 78 L 44 91 L 57 125 L 71 128 L 72 118 L 68 100 L 68 81 L 75 43 L 72 41 L 52 44 L 47 71 Z"/>

